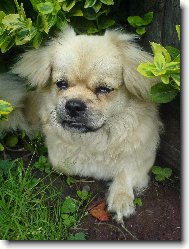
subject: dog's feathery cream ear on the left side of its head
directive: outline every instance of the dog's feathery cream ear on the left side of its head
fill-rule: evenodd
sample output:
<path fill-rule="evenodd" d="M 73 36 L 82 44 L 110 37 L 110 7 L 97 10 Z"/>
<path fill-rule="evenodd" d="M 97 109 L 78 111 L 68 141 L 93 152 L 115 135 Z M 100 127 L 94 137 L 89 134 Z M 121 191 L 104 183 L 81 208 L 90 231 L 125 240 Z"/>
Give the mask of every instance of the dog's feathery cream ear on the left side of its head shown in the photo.
<path fill-rule="evenodd" d="M 44 87 L 52 72 L 54 44 L 57 40 L 75 35 L 69 26 L 57 38 L 52 39 L 44 47 L 25 52 L 12 67 L 11 72 L 26 78 L 31 86 Z"/>

